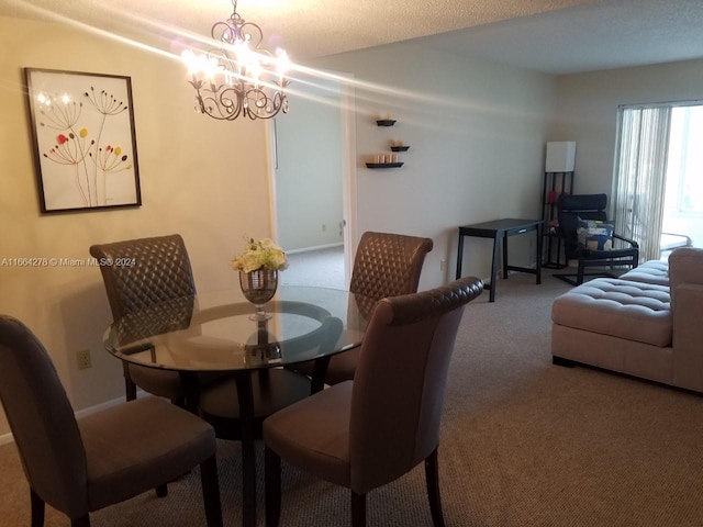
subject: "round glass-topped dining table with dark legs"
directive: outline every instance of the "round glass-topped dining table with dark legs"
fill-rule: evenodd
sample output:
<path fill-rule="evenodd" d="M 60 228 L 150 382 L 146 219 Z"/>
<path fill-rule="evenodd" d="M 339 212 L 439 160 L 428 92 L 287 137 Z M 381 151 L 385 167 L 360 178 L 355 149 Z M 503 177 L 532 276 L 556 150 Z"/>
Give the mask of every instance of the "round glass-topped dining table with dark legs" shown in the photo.
<path fill-rule="evenodd" d="M 197 374 L 235 379 L 242 421 L 243 525 L 256 525 L 255 408 L 252 373 L 313 361 L 311 393 L 323 389 L 330 358 L 361 344 L 376 301 L 348 291 L 280 285 L 268 319 L 238 288 L 198 293 L 135 311 L 104 334 L 105 349 L 134 365 L 179 372 L 186 401 L 197 400 Z M 197 412 L 191 405 L 189 410 Z"/>

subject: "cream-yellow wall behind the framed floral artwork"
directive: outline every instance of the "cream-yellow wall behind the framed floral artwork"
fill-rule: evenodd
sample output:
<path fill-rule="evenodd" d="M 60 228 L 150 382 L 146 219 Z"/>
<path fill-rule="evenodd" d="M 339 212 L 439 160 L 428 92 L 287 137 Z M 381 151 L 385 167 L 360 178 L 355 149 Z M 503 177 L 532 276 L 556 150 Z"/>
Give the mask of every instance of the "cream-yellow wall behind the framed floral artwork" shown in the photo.
<path fill-rule="evenodd" d="M 235 287 L 230 260 L 244 236 L 270 234 L 266 126 L 196 114 L 178 60 L 67 26 L 0 16 L 0 258 L 81 259 L 91 244 L 180 233 L 199 290 Z M 141 208 L 40 213 L 23 67 L 132 78 Z M 124 396 L 101 341 L 111 316 L 99 269 L 0 267 L 0 313 L 45 344 L 75 410 Z M 78 370 L 86 348 L 93 367 Z"/>

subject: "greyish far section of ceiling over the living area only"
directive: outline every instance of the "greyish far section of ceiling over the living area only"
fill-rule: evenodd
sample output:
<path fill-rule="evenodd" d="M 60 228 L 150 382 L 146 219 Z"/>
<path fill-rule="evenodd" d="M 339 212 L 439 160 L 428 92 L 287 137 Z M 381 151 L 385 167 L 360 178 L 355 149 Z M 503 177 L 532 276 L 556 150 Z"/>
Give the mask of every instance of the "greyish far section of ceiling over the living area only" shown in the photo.
<path fill-rule="evenodd" d="M 703 0 L 600 1 L 423 43 L 555 75 L 702 58 Z"/>

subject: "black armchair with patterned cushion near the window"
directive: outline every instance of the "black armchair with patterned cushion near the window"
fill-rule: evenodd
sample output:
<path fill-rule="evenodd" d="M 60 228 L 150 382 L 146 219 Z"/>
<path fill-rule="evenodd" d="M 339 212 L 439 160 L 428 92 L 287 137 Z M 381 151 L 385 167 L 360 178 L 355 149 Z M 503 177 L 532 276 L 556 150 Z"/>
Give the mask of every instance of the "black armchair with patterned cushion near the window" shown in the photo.
<path fill-rule="evenodd" d="M 584 277 L 616 277 L 615 267 L 635 268 L 639 262 L 639 246 L 615 233 L 607 221 L 605 194 L 561 194 L 557 203 L 559 235 L 563 240 L 566 262 L 577 260 L 576 273 L 554 276 L 572 285 L 583 283 Z M 620 240 L 623 247 L 615 247 Z M 587 268 L 599 268 L 587 272 Z"/>

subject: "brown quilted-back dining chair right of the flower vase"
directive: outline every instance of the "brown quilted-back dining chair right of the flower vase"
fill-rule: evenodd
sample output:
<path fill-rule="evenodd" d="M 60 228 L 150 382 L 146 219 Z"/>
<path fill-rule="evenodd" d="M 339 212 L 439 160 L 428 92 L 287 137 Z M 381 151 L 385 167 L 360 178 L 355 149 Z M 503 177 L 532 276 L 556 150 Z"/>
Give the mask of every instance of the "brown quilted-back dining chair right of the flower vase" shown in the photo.
<path fill-rule="evenodd" d="M 349 291 L 360 295 L 360 301 L 366 303 L 359 306 L 359 312 L 370 315 L 376 300 L 416 292 L 425 256 L 432 247 L 431 238 L 371 231 L 364 233 L 354 257 L 349 282 Z M 332 357 L 325 382 L 336 384 L 354 379 L 358 360 L 358 348 Z M 310 370 L 311 366 L 305 365 L 304 368 Z"/>

